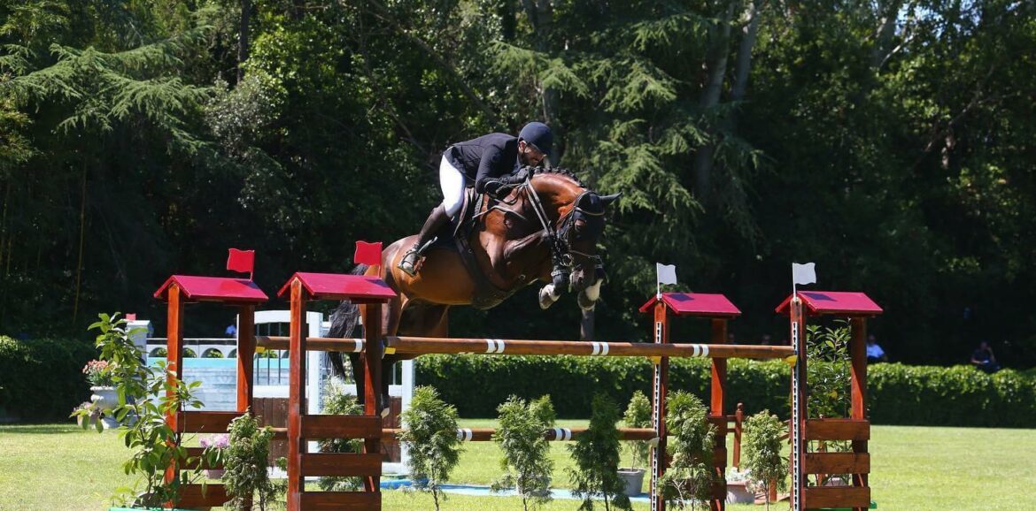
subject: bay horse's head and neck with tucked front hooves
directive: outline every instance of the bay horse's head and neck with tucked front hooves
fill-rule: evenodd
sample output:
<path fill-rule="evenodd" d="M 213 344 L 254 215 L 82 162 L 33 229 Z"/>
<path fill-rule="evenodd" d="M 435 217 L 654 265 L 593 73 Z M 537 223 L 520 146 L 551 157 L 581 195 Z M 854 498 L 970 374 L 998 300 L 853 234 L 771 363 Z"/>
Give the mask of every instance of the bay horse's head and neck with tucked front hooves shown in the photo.
<path fill-rule="evenodd" d="M 578 293 L 583 309 L 594 308 L 601 295 L 604 265 L 597 255 L 597 242 L 604 232 L 604 213 L 618 194 L 598 196 L 574 176 L 537 174 L 533 187 L 551 223 L 551 282 L 540 290 L 540 306 L 549 307 L 560 297 L 566 282 Z"/>

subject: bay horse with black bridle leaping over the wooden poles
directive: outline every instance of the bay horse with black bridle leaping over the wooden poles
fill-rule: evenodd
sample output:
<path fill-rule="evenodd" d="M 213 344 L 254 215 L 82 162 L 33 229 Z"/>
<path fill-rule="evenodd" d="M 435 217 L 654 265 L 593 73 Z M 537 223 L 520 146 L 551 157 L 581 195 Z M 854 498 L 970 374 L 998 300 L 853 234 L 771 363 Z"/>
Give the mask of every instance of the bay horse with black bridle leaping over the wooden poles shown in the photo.
<path fill-rule="evenodd" d="M 564 169 L 531 171 L 523 183 L 511 185 L 503 199 L 480 197 L 471 219 L 440 232 L 449 242 L 453 230 L 459 231 L 457 246 L 433 243 L 415 275 L 397 265 L 416 235 L 385 247 L 379 267 L 353 269 L 354 274 L 380 277 L 397 292 L 397 298 L 382 308 L 384 335 L 445 337 L 450 307 L 491 308 L 537 281 L 544 283 L 539 292 L 541 308 L 556 302 L 566 284 L 576 293 L 580 308 L 594 308 L 604 280 L 597 242 L 604 231 L 605 208 L 620 194 L 599 196 Z M 365 307 L 343 301 L 332 313 L 328 335 L 351 336 Z M 363 364 L 358 354 L 350 353 L 349 358 L 363 400 Z M 404 358 L 385 355 L 382 374 Z M 330 360 L 336 375 L 344 378 L 341 354 L 330 353 Z M 388 379 L 382 382 L 382 407 L 387 407 Z"/>

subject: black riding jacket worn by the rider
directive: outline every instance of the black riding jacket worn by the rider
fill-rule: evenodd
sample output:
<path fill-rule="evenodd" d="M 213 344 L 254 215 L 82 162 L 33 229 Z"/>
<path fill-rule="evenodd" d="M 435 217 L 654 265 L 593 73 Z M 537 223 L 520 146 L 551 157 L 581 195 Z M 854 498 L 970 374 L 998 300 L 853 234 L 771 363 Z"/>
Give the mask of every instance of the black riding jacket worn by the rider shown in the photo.
<path fill-rule="evenodd" d="M 458 142 L 443 153 L 464 174 L 468 185 L 479 193 L 486 182 L 518 171 L 518 139 L 507 133 L 489 133 L 467 142 Z"/>

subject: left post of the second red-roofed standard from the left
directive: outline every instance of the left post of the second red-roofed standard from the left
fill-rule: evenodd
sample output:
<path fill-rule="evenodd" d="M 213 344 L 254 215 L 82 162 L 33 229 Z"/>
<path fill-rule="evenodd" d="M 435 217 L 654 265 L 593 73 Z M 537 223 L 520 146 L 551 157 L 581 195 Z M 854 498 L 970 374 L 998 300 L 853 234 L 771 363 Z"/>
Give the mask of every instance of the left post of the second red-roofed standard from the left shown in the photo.
<path fill-rule="evenodd" d="M 303 414 L 306 413 L 306 296 L 301 280 L 291 281 L 291 315 L 288 348 L 288 511 L 303 511 L 301 492 L 306 489 L 303 477 Z"/>

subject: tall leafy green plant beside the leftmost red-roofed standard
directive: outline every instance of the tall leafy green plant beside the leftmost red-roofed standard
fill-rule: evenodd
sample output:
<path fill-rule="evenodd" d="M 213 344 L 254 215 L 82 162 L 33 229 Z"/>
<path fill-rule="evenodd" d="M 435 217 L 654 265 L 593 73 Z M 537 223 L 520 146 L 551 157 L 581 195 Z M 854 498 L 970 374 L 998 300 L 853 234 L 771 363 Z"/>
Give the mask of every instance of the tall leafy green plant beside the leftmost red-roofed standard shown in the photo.
<path fill-rule="evenodd" d="M 176 442 L 178 434 L 165 420 L 168 414 L 185 407 L 202 407 L 194 397 L 200 383 L 185 384 L 174 378 L 174 373 L 167 374 L 164 364 L 156 368 L 148 366 L 125 330 L 126 321 L 119 319 L 118 313 L 98 317 L 100 321 L 90 325 L 90 330 L 99 331 L 95 343 L 100 350 L 100 360 L 107 362 L 105 372 L 110 375 L 117 396 L 115 408 L 106 414 L 112 414 L 121 424 L 119 434 L 132 449 L 130 458 L 122 463 L 123 472 L 140 476 L 137 484 L 143 484 L 142 488 L 120 488 L 113 501 L 136 508 L 175 505 L 179 501 L 180 485 L 204 484 L 203 469 L 218 462 L 218 452 L 212 449 L 206 449 L 201 459 L 189 457 L 186 449 Z M 73 416 L 82 417 L 83 427 L 88 427 L 87 418 L 98 409 L 94 401 L 90 407 L 76 410 Z M 137 420 L 126 420 L 130 417 Z M 99 422 L 94 427 L 97 431 L 104 430 Z M 178 477 L 166 481 L 166 469 L 174 463 L 176 467 L 194 464 L 196 469 L 179 472 Z"/>

